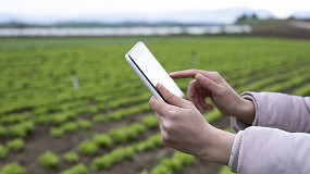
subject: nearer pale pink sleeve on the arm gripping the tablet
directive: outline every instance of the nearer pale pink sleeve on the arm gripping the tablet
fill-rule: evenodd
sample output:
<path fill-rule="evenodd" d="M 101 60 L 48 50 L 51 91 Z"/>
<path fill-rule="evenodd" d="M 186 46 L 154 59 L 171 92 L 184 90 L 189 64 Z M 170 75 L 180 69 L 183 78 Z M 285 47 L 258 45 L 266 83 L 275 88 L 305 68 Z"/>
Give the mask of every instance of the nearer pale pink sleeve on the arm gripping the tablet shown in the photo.
<path fill-rule="evenodd" d="M 238 174 L 309 174 L 310 135 L 250 126 L 237 133 L 230 169 Z"/>

